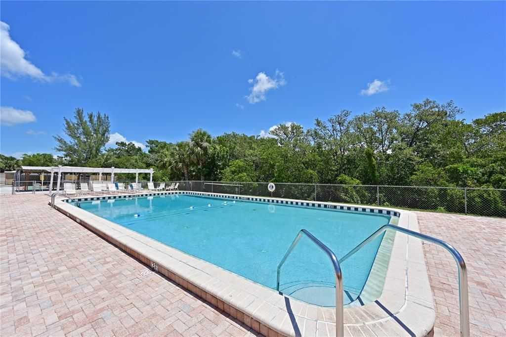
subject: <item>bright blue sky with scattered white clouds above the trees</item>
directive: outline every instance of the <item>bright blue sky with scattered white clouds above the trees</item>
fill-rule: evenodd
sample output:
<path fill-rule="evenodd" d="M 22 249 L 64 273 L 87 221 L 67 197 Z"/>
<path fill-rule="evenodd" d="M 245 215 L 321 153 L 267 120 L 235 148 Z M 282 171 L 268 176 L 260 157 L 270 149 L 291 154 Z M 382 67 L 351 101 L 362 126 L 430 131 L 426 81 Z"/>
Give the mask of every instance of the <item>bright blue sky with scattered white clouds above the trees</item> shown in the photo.
<path fill-rule="evenodd" d="M 425 98 L 503 111 L 505 4 L 2 2 L 0 152 L 55 153 L 76 107 L 139 143 Z"/>

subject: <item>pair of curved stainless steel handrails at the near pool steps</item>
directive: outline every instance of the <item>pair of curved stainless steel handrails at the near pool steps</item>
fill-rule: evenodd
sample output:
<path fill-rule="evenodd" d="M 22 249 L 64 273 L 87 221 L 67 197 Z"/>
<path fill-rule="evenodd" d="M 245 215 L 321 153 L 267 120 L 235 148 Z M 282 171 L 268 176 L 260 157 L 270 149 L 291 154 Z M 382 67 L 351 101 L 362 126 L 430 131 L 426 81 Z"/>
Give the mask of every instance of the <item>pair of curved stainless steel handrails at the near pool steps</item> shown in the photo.
<path fill-rule="evenodd" d="M 330 248 L 328 248 L 325 244 L 323 244 L 320 240 L 318 240 L 314 235 L 308 232 L 305 229 L 301 229 L 301 231 L 297 234 L 292 244 L 286 251 L 283 259 L 278 265 L 277 269 L 277 282 L 276 289 L 279 291 L 279 281 L 281 276 L 281 266 L 285 263 L 286 259 L 290 255 L 291 251 L 297 243 L 299 243 L 301 237 L 306 235 L 313 243 L 315 243 L 320 249 L 322 249 L 325 254 L 329 257 L 332 262 L 332 266 L 334 268 L 335 274 L 335 335 L 336 337 L 343 337 L 344 335 L 344 317 L 343 317 L 343 274 L 341 271 L 341 263 L 345 262 L 354 255 L 358 250 L 360 250 L 363 246 L 374 240 L 379 235 L 383 234 L 383 232 L 387 230 L 394 230 L 409 236 L 416 237 L 423 241 L 428 241 L 435 243 L 450 252 L 450 254 L 455 259 L 458 268 L 458 295 L 459 295 L 459 306 L 460 306 L 460 335 L 462 337 L 469 337 L 469 293 L 468 293 L 468 272 L 466 268 L 466 263 L 462 259 L 460 253 L 449 243 L 446 243 L 443 240 L 437 239 L 435 237 L 421 234 L 418 232 L 411 231 L 409 229 L 405 229 L 402 227 L 394 226 L 394 225 L 384 225 L 374 233 L 372 233 L 368 238 L 359 243 L 355 248 L 350 250 L 348 254 L 346 254 L 341 260 L 338 260 L 335 257 L 335 254 Z"/>

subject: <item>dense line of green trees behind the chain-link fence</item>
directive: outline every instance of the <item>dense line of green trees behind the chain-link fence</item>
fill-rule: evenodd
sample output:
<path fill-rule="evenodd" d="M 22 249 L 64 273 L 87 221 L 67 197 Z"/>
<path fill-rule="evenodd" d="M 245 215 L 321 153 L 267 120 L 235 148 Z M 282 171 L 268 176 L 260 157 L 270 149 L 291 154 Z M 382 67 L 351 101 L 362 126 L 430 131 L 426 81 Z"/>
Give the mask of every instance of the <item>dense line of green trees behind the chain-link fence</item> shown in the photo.
<path fill-rule="evenodd" d="M 213 180 L 323 184 L 506 188 L 506 112 L 471 122 L 452 101 L 426 99 L 401 113 L 378 107 L 316 119 L 311 128 L 280 124 L 267 137 L 202 129 L 176 143 L 150 139 L 106 148 L 106 114 L 76 109 L 55 136 L 62 155 L 0 155 L 2 170 L 20 165 L 154 168 L 155 181 Z M 131 179 L 129 175 L 121 177 Z"/>

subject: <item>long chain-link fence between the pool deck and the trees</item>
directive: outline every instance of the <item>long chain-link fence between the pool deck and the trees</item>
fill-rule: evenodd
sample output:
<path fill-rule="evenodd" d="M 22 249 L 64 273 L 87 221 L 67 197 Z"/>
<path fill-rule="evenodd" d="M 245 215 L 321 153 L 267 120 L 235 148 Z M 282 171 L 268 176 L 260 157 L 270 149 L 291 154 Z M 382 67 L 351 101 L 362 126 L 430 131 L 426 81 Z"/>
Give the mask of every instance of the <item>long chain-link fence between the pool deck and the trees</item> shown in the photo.
<path fill-rule="evenodd" d="M 275 183 L 276 189 L 269 192 L 269 183 L 179 183 L 179 190 L 186 191 L 379 205 L 506 218 L 506 189 Z"/>

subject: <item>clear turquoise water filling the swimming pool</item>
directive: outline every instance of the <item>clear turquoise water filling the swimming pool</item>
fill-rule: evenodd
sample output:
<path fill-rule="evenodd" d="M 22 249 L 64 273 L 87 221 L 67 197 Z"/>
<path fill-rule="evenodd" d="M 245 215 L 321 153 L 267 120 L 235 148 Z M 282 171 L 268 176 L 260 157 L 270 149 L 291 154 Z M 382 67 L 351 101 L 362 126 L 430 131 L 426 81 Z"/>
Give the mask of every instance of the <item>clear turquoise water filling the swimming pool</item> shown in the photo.
<path fill-rule="evenodd" d="M 184 194 L 88 201 L 80 206 L 273 289 L 277 266 L 301 229 L 340 259 L 390 220 L 377 214 Z M 360 294 L 382 238 L 342 264 L 345 304 Z M 334 287 L 328 257 L 303 237 L 283 265 L 281 290 L 308 303 L 335 306 Z"/>

